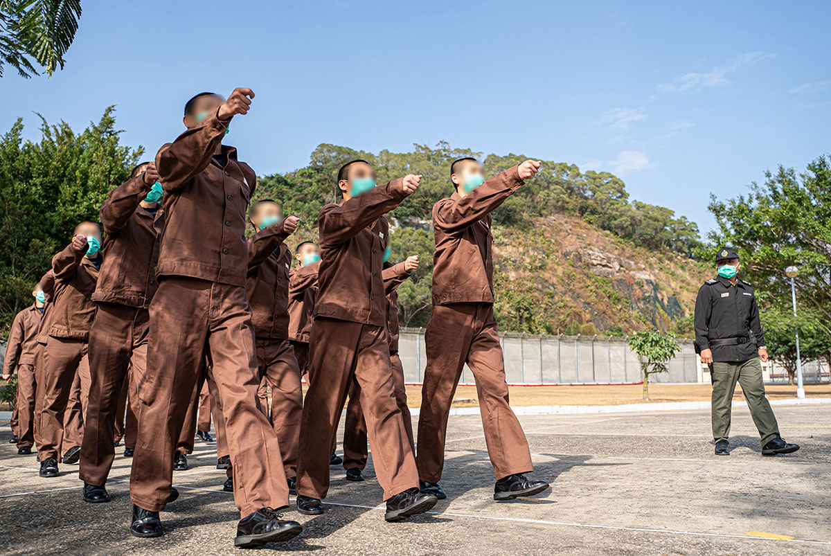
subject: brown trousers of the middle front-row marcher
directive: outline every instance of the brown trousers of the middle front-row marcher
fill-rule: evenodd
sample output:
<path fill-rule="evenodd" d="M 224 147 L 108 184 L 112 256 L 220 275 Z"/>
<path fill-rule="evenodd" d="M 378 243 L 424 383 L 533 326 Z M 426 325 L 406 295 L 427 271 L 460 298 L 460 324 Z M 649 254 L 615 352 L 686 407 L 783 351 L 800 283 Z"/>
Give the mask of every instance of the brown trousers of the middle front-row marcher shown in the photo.
<path fill-rule="evenodd" d="M 297 494 L 322 499 L 329 488 L 329 453 L 349 385 L 361 386 L 361 404 L 384 499 L 418 487 L 406 427 L 396 404 L 385 326 L 316 317 L 300 428 Z"/>

